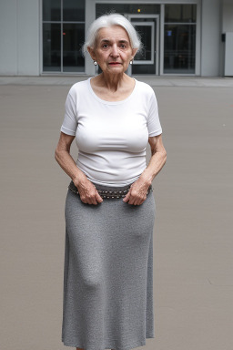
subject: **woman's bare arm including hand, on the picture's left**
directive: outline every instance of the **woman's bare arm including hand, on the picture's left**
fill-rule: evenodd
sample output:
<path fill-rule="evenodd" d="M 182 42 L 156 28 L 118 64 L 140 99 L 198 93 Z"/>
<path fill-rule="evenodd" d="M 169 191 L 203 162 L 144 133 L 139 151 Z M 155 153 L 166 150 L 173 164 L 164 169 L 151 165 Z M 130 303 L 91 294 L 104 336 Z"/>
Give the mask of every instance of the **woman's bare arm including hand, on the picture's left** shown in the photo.
<path fill-rule="evenodd" d="M 81 201 L 88 204 L 100 203 L 103 200 L 98 194 L 96 187 L 86 178 L 85 173 L 77 168 L 75 160 L 70 155 L 70 146 L 74 139 L 75 136 L 61 132 L 56 146 L 56 161 L 75 183 Z"/>

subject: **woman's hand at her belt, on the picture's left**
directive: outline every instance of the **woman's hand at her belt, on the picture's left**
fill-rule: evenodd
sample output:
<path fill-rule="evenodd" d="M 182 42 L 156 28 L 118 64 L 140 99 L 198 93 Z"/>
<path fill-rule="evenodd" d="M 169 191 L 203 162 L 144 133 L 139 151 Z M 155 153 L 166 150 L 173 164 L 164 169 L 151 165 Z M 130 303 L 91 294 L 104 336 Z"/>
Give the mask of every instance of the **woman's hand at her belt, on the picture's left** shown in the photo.
<path fill-rule="evenodd" d="M 78 190 L 80 200 L 87 204 L 98 204 L 103 199 L 98 194 L 94 184 L 86 178 L 86 175 L 82 176 L 82 179 L 73 180 Z"/>

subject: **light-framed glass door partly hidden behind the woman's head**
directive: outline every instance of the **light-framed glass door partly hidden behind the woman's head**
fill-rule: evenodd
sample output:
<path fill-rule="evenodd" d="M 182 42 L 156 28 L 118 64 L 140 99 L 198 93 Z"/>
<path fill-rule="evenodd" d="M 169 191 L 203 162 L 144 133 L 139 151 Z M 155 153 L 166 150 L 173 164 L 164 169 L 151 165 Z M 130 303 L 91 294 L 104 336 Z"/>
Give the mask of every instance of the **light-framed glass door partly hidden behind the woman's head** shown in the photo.
<path fill-rule="evenodd" d="M 158 15 L 128 15 L 141 36 L 143 49 L 129 67 L 128 74 L 153 74 L 158 71 Z"/>

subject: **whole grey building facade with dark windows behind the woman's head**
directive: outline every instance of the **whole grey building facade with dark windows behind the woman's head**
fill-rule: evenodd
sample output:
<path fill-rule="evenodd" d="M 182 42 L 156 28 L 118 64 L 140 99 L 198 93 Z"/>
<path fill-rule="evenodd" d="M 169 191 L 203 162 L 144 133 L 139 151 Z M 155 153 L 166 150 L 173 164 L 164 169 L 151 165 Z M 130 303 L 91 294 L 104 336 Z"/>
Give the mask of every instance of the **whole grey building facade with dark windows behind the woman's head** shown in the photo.
<path fill-rule="evenodd" d="M 0 75 L 95 75 L 81 47 L 109 12 L 142 37 L 129 74 L 233 76 L 233 0 L 0 0 Z"/>

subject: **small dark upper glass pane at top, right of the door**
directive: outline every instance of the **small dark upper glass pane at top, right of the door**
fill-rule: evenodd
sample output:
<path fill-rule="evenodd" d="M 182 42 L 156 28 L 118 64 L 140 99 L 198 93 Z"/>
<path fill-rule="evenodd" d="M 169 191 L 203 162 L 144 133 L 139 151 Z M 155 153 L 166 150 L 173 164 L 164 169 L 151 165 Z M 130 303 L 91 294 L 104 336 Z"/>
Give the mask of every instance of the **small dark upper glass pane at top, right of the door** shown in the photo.
<path fill-rule="evenodd" d="M 165 5 L 165 22 L 196 23 L 197 5 Z"/>

